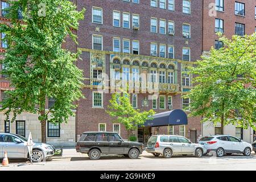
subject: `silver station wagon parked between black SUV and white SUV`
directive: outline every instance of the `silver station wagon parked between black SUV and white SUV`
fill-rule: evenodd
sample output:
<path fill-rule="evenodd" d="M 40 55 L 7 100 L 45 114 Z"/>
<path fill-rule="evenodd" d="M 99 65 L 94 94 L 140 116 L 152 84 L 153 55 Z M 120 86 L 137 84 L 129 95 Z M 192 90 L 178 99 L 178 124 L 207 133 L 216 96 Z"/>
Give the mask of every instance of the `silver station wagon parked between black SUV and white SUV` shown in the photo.
<path fill-rule="evenodd" d="M 171 158 L 172 155 L 195 155 L 198 158 L 207 154 L 201 144 L 192 143 L 189 139 L 177 135 L 153 135 L 148 139 L 146 151 L 155 156 L 163 155 Z"/>

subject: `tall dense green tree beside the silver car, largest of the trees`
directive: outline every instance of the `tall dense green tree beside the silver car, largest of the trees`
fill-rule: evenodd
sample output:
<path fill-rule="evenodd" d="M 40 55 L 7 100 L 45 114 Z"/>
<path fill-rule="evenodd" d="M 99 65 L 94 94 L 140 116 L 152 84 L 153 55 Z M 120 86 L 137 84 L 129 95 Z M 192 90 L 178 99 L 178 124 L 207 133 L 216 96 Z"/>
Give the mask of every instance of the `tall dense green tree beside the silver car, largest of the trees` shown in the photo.
<path fill-rule="evenodd" d="M 76 42 L 76 31 L 84 12 L 68 0 L 10 1 L 7 18 L 10 24 L 1 24 L 9 46 L 1 64 L 14 90 L 7 91 L 1 105 L 6 119 L 23 111 L 39 114 L 42 142 L 46 142 L 46 123 L 68 122 L 73 101 L 82 97 L 82 71 L 74 64 L 79 53 L 62 48 L 65 38 Z M 20 13 L 22 20 L 20 20 Z M 46 109 L 46 98 L 55 104 Z"/>

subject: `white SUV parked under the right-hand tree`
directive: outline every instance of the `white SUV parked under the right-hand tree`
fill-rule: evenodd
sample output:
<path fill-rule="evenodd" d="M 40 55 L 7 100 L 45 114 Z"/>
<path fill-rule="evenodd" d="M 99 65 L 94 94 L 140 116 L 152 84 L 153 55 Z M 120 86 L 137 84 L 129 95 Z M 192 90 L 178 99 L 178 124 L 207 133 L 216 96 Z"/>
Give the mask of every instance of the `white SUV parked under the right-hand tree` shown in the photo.
<path fill-rule="evenodd" d="M 203 137 L 199 140 L 200 144 L 203 144 L 207 148 L 207 152 L 215 151 L 218 157 L 222 157 L 225 154 L 242 153 L 245 156 L 250 156 L 253 147 L 250 143 L 243 142 L 229 135 L 213 135 Z"/>

